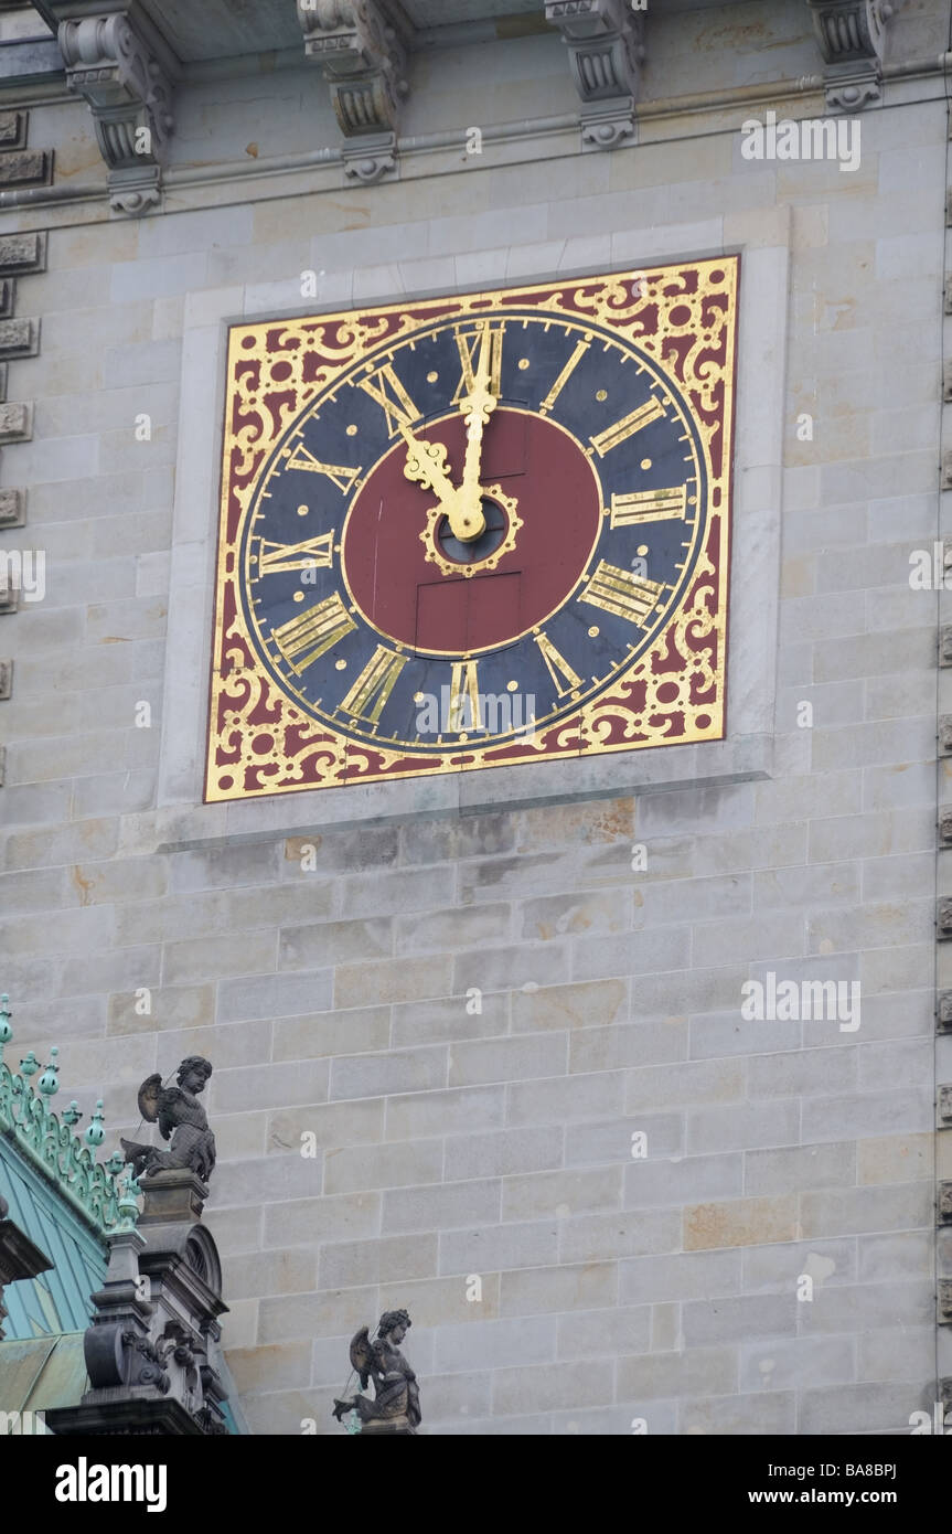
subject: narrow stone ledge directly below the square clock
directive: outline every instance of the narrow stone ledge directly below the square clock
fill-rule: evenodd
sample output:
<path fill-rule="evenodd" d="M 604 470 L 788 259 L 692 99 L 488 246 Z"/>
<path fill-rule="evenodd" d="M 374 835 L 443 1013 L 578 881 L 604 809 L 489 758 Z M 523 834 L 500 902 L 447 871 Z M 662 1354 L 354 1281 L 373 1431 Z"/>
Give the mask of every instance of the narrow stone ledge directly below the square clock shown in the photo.
<path fill-rule="evenodd" d="M 348 830 L 389 821 L 435 819 L 524 810 L 579 799 L 728 787 L 771 776 L 773 741 L 747 735 L 698 746 L 616 752 L 518 767 L 491 767 L 438 778 L 408 778 L 342 788 L 311 788 L 196 807 L 169 805 L 126 816 L 120 856 L 213 848 L 314 830 Z M 675 758 L 675 759 L 673 759 Z"/>

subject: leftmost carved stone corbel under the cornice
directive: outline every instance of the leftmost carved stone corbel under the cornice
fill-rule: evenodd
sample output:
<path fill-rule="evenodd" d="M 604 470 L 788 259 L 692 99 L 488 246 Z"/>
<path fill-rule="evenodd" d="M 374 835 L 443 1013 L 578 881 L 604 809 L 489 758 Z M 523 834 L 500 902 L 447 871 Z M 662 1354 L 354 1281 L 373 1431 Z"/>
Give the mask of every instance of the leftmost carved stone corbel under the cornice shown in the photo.
<path fill-rule="evenodd" d="M 92 112 L 100 153 L 109 169 L 109 201 L 140 215 L 161 196 L 173 84 L 127 11 L 60 23 L 66 83 Z"/>

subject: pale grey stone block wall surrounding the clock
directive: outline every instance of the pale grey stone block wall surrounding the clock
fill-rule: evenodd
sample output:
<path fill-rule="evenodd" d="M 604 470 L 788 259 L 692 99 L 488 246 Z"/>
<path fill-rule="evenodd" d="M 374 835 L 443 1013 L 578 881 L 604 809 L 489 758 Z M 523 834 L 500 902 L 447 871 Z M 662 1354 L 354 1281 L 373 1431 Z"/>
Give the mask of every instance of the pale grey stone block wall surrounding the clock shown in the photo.
<path fill-rule="evenodd" d="M 797 0 L 659 18 L 635 147 L 512 133 L 376 187 L 268 167 L 328 141 L 313 74 L 198 80 L 141 221 L 109 216 L 84 106 L 31 104 L 57 184 L 103 190 L 0 207 L 49 232 L 17 279 L 41 345 L 9 362 L 32 440 L 0 465 L 29 486 L 3 546 L 46 555 L 0 614 L 3 988 L 117 1134 L 146 1074 L 213 1062 L 254 1431 L 339 1431 L 346 1339 L 389 1305 L 432 1433 L 898 1433 L 937 1399 L 937 597 L 909 554 L 943 526 L 941 11 L 897 17 L 892 63 L 931 64 L 862 114 L 854 172 L 740 153 L 745 118 L 823 112 Z M 555 38 L 419 69 L 409 133 L 576 110 Z M 328 307 L 722 250 L 731 739 L 202 807 L 227 322 L 307 310 L 308 268 Z M 860 1028 L 745 1022 L 768 973 L 858 980 Z"/>

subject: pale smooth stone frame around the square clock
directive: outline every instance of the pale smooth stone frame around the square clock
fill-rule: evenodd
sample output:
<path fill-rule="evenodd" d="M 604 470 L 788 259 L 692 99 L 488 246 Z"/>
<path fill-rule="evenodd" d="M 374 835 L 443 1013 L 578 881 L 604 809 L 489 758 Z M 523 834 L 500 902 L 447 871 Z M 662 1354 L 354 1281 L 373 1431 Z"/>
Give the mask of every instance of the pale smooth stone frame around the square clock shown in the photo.
<path fill-rule="evenodd" d="M 724 242 L 721 219 L 621 230 L 604 236 L 606 255 L 530 272 L 532 281 L 570 281 L 593 270 L 635 270 L 647 262 L 739 253 L 740 302 L 734 423 L 734 497 L 728 600 L 727 736 L 681 747 L 647 747 L 596 758 L 520 762 L 438 778 L 345 784 L 311 793 L 202 802 L 208 719 L 208 667 L 215 615 L 219 471 L 228 328 L 299 318 L 354 304 L 472 291 L 455 285 L 369 291 L 362 270 L 331 273 L 333 291 L 317 299 L 262 308 L 259 288 L 199 291 L 185 301 L 179 436 L 173 514 L 166 689 L 159 755 L 158 818 L 162 847 L 201 847 L 235 838 L 296 834 L 308 827 L 345 827 L 391 818 L 478 813 L 576 799 L 624 798 L 768 778 L 773 764 L 780 495 L 790 212 L 748 215 L 742 242 Z M 385 236 L 382 230 L 382 236 Z M 598 245 L 593 239 L 592 245 Z M 610 247 L 610 249 L 609 249 Z M 480 285 L 524 282 L 530 247 L 474 253 Z M 480 259 L 481 255 L 481 259 Z M 472 265 L 472 255 L 469 258 Z M 293 279 L 291 279 L 293 281 Z M 346 290 L 343 282 L 346 281 Z M 290 282 L 288 282 L 290 285 Z M 287 291 L 287 288 L 285 288 Z M 208 402 L 213 400 L 213 410 Z M 742 578 L 740 578 L 742 575 Z"/>

